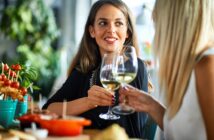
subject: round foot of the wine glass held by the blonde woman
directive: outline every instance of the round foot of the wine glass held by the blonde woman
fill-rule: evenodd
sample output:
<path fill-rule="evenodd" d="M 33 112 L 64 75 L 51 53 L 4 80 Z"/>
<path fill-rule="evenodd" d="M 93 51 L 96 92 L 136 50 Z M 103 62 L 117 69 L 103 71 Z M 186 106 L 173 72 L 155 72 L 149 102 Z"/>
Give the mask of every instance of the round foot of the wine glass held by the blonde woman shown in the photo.
<path fill-rule="evenodd" d="M 127 105 L 119 105 L 112 108 L 112 112 L 118 115 L 129 115 L 135 112 L 134 108 Z"/>

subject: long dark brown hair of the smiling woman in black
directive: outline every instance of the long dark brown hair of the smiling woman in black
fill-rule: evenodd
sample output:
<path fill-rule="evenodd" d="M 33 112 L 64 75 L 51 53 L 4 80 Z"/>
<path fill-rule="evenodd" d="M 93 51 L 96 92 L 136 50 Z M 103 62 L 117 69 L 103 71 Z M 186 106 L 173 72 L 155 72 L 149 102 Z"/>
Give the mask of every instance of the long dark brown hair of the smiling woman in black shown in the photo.
<path fill-rule="evenodd" d="M 134 23 L 132 20 L 131 12 L 127 5 L 121 0 L 98 0 L 93 4 L 89 12 L 88 19 L 85 24 L 84 34 L 80 42 L 79 50 L 76 56 L 74 57 L 74 60 L 72 61 L 68 71 L 69 75 L 74 68 L 77 68 L 83 73 L 87 73 L 90 70 L 96 68 L 101 63 L 99 47 L 95 39 L 91 38 L 90 36 L 89 26 L 94 24 L 98 10 L 106 4 L 112 5 L 120 9 L 125 15 L 127 19 L 129 37 L 126 39 L 124 45 L 133 45 L 136 49 L 137 54 L 139 54 Z"/>

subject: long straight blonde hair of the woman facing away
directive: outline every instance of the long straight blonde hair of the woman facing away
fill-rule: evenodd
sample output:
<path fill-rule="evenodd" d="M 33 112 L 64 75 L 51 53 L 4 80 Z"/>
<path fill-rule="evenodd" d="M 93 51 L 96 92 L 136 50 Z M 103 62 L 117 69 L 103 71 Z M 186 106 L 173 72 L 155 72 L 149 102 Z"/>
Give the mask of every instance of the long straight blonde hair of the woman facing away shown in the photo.
<path fill-rule="evenodd" d="M 197 57 L 213 39 L 213 9 L 213 0 L 156 0 L 154 52 L 170 118 L 182 104 Z"/>

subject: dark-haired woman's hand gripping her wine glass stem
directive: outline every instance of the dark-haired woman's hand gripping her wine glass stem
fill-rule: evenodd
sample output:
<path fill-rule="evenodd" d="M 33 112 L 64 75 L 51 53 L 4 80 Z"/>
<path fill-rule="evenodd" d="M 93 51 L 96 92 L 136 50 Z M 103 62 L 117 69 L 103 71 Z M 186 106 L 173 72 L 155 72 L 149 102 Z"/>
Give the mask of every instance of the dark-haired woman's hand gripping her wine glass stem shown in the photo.
<path fill-rule="evenodd" d="M 103 87 L 93 85 L 88 90 L 88 104 L 90 106 L 112 106 L 115 102 L 114 93 Z"/>

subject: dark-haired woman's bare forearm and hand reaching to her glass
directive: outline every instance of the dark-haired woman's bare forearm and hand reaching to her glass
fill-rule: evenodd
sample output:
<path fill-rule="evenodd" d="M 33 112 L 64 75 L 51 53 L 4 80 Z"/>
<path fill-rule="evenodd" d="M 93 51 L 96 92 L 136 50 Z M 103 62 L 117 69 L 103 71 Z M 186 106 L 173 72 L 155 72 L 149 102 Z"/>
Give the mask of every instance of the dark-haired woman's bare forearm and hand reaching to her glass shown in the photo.
<path fill-rule="evenodd" d="M 79 115 L 97 106 L 111 106 L 114 104 L 113 93 L 100 86 L 92 86 L 88 96 L 68 101 L 66 114 Z M 51 112 L 62 115 L 63 102 L 53 102 L 48 108 Z"/>

